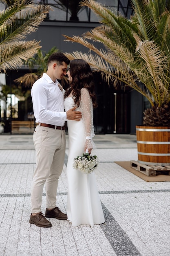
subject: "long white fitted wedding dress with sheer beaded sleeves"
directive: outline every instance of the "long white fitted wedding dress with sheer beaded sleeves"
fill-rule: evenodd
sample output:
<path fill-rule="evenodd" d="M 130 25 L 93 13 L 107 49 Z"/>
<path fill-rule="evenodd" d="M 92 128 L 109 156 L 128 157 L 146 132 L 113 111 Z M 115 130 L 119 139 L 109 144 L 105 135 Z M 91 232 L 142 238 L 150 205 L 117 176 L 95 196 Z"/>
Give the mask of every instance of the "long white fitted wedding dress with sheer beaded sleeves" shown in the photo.
<path fill-rule="evenodd" d="M 73 108 L 74 100 L 67 97 L 64 101 L 65 110 Z M 84 153 L 86 136 L 94 136 L 93 105 L 88 90 L 82 88 L 80 106 L 77 110 L 82 112 L 81 121 L 68 120 L 68 198 L 67 216 L 73 227 L 82 224 L 102 224 L 105 222 L 102 205 L 95 180 L 95 171 L 84 174 L 73 168 L 73 159 Z M 91 140 L 92 141 L 92 140 Z M 94 142 L 93 147 L 94 147 Z M 93 151 L 91 153 L 93 155 Z"/>

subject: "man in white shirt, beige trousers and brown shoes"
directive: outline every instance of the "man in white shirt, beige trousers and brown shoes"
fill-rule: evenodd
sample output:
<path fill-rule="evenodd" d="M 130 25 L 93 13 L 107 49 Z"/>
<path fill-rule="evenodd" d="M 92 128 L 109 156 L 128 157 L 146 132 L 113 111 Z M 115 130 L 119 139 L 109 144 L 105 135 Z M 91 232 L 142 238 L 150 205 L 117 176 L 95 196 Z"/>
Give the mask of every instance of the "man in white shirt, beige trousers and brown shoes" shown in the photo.
<path fill-rule="evenodd" d="M 53 53 L 48 69 L 31 89 L 33 112 L 38 126 L 33 134 L 36 168 L 31 186 L 31 216 L 29 222 L 38 227 L 51 227 L 48 218 L 66 220 L 67 215 L 56 207 L 58 180 L 65 156 L 66 119 L 80 121 L 81 112 L 75 108 L 64 112 L 64 90 L 57 79 L 66 75 L 69 59 L 61 52 Z M 46 212 L 41 212 L 43 188 L 46 188 Z"/>

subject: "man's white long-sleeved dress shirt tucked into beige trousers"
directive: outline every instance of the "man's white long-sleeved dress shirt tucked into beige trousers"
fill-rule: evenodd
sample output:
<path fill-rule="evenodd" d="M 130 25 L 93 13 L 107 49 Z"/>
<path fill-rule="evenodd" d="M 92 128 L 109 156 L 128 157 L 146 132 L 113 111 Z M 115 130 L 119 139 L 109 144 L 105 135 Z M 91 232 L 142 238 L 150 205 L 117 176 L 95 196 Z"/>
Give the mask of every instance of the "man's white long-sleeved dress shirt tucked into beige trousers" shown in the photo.
<path fill-rule="evenodd" d="M 31 89 L 33 112 L 36 123 L 64 126 L 66 112 L 64 112 L 64 90 L 58 87 L 58 81 L 53 82 L 44 73 L 35 81 Z"/>

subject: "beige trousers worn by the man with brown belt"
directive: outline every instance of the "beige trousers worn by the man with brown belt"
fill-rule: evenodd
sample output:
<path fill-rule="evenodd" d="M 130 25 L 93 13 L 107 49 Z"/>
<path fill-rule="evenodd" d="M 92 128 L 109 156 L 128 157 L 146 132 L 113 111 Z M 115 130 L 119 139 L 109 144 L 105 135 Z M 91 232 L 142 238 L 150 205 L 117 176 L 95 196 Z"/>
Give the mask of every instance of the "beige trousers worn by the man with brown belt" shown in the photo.
<path fill-rule="evenodd" d="M 58 180 L 65 156 L 65 130 L 37 126 L 33 134 L 36 168 L 31 185 L 31 213 L 39 213 L 45 184 L 46 208 L 56 207 Z"/>

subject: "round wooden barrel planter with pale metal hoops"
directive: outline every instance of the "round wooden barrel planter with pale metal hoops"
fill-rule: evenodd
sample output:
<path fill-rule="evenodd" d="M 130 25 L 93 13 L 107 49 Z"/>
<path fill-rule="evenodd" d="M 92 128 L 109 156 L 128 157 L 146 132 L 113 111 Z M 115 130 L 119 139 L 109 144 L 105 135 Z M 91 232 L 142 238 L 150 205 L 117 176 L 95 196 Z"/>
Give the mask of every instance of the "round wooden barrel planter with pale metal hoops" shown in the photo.
<path fill-rule="evenodd" d="M 170 165 L 170 127 L 136 126 L 138 162 Z"/>

